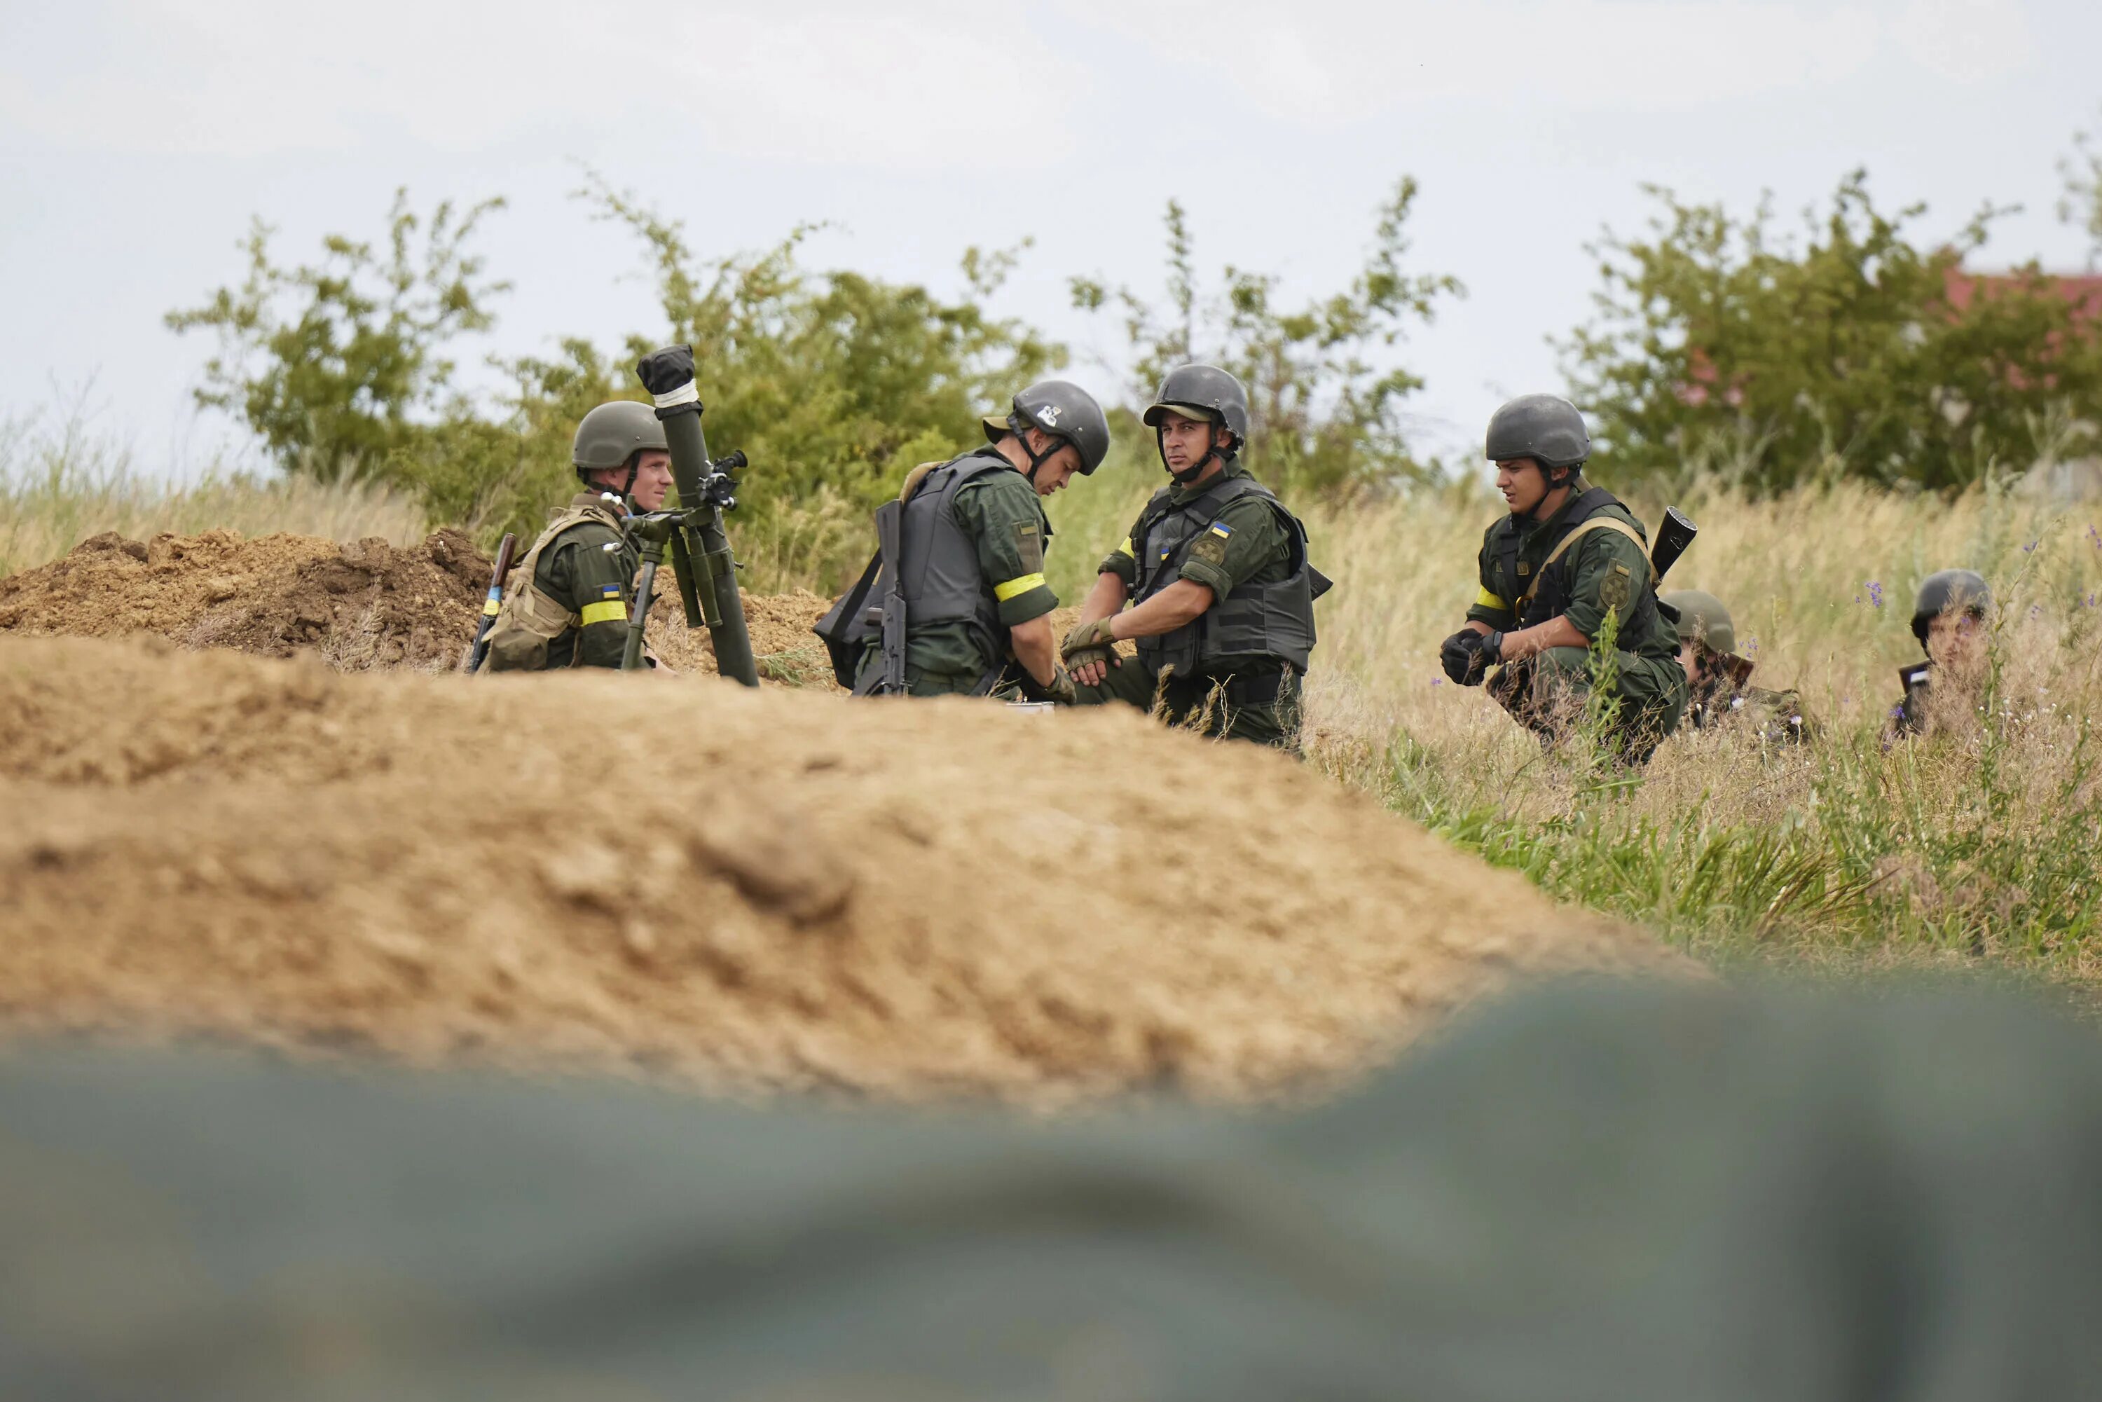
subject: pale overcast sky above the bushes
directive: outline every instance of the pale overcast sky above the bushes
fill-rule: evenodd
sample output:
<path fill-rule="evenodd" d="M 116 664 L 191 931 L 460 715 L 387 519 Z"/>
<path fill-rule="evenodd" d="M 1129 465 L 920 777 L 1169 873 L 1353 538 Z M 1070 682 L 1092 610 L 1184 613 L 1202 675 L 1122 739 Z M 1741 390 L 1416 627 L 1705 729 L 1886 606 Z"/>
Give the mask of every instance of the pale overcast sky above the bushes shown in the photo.
<path fill-rule="evenodd" d="M 92 378 L 141 465 L 198 471 L 231 439 L 187 401 L 208 345 L 162 313 L 238 280 L 252 214 L 307 256 L 376 235 L 397 185 L 511 202 L 483 248 L 515 290 L 467 359 L 656 334 L 633 240 L 570 198 L 584 168 L 702 254 L 828 221 L 813 267 L 946 292 L 965 246 L 1034 235 L 998 309 L 1114 391 L 1116 328 L 1066 280 L 1158 290 L 1171 195 L 1202 267 L 1316 294 L 1406 172 L 1415 267 L 1469 288 L 1404 351 L 1423 439 L 1459 450 L 1562 385 L 1545 338 L 1642 183 L 1793 212 L 1867 166 L 1936 233 L 2022 204 L 1988 261 L 2070 269 L 2056 162 L 2098 114 L 2102 4 L 2075 0 L 0 0 L 0 410 Z"/>

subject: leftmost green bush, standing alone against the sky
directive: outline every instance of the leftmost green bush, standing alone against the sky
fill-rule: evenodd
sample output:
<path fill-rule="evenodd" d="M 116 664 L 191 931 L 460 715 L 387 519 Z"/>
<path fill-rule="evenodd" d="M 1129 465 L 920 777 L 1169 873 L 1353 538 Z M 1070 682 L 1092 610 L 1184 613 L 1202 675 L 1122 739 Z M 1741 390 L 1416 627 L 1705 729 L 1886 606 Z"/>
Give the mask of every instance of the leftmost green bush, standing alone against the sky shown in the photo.
<path fill-rule="evenodd" d="M 284 267 L 273 229 L 256 219 L 242 250 L 248 275 L 202 307 L 166 315 L 177 332 L 210 330 L 217 353 L 195 389 L 200 408 L 227 410 L 286 469 L 334 481 L 380 475 L 425 425 L 450 410 L 454 362 L 446 345 L 492 324 L 488 301 L 509 288 L 469 250 L 502 200 L 429 217 L 395 191 L 385 248 L 347 235 L 322 259 Z"/>

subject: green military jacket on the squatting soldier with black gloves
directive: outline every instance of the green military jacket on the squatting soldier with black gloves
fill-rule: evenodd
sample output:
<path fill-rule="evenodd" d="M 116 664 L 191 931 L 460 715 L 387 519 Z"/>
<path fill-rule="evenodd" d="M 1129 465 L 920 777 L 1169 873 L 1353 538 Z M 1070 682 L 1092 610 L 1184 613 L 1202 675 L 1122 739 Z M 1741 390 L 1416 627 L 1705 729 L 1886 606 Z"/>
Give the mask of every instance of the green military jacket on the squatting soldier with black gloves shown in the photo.
<path fill-rule="evenodd" d="M 1583 479 L 1576 479 L 1570 500 L 1545 521 L 1505 515 L 1482 534 L 1482 555 L 1478 561 L 1480 593 L 1467 610 L 1467 618 L 1484 622 L 1499 633 L 1522 626 L 1520 601 L 1528 584 L 1539 576 L 1555 542 L 1562 540 L 1570 509 L 1583 496 Z M 1612 517 L 1635 530 L 1644 540 L 1648 532 L 1621 502 L 1610 502 L 1593 517 Z M 1505 557 L 1511 534 L 1520 536 L 1516 570 L 1505 576 Z M 1562 557 L 1568 570 L 1568 601 L 1562 616 L 1585 637 L 1598 637 L 1608 612 L 1619 614 L 1619 647 L 1644 658 L 1677 658 L 1677 628 L 1665 622 L 1652 607 L 1637 607 L 1644 595 L 1652 595 L 1650 557 L 1642 544 L 1614 530 L 1593 530 L 1579 538 Z"/>

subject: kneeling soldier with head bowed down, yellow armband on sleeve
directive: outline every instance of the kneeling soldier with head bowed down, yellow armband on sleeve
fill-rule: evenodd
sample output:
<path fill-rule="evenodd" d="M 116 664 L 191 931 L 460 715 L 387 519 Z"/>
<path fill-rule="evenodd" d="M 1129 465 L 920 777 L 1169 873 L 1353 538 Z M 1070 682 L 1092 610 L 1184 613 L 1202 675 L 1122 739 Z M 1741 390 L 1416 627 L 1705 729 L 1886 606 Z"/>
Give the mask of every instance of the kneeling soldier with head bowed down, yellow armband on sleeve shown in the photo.
<path fill-rule="evenodd" d="M 1011 679 L 1028 696 L 1072 700 L 1051 635 L 1043 498 L 1101 467 L 1110 420 L 1078 385 L 1043 380 L 984 429 L 984 446 L 912 469 L 877 513 L 900 559 L 885 544 L 818 622 L 856 696 L 986 696 Z M 883 534 L 885 513 L 895 536 Z M 885 631 L 881 616 L 898 607 L 904 626 Z"/>

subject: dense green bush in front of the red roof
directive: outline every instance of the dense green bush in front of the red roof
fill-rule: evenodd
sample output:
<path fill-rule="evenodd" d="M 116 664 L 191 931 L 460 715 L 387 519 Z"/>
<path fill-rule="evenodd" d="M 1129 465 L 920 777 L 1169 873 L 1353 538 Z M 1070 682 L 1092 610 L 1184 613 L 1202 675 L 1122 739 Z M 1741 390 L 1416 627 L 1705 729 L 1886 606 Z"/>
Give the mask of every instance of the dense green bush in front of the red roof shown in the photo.
<path fill-rule="evenodd" d="M 1595 315 L 1560 347 L 1614 473 L 1957 488 L 2102 410 L 2096 326 L 2049 277 L 1961 271 L 2001 210 L 1921 246 L 1923 206 L 1881 212 L 1854 172 L 1797 244 L 1766 202 L 1740 221 L 1650 193 L 1646 235 L 1591 248 Z"/>

